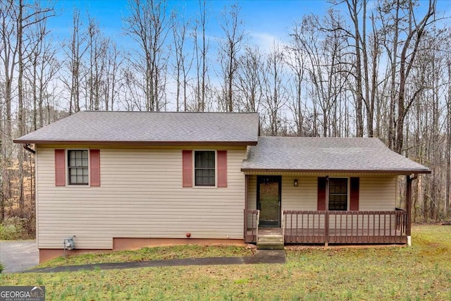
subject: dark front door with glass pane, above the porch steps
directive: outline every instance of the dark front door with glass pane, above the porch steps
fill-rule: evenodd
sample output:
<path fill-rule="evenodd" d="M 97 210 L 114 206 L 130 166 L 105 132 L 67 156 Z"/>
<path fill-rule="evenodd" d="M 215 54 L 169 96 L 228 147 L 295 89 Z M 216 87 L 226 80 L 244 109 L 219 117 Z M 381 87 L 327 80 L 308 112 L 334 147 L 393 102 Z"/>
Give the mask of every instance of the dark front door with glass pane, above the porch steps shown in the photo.
<path fill-rule="evenodd" d="M 280 227 L 281 176 L 257 176 L 257 209 L 261 227 Z"/>

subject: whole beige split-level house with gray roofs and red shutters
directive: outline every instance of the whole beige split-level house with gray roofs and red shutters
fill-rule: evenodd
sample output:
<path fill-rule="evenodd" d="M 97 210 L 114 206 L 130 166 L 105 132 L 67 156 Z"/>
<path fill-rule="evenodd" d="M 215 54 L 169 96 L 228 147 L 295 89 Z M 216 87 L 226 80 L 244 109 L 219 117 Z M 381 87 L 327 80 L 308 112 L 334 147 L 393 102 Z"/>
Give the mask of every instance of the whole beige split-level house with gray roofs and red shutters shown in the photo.
<path fill-rule="evenodd" d="M 431 172 L 378 138 L 262 137 L 258 113 L 82 111 L 14 142 L 35 152 L 41 262 L 74 235 L 72 254 L 410 243 L 412 180 Z"/>

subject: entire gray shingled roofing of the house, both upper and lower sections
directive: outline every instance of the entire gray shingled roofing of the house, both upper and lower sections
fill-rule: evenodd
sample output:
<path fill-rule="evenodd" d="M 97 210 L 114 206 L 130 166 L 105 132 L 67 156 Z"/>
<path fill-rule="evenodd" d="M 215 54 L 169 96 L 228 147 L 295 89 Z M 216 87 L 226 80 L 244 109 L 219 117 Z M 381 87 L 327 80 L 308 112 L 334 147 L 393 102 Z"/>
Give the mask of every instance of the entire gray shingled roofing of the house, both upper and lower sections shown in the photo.
<path fill-rule="evenodd" d="M 429 173 L 378 138 L 258 137 L 258 113 L 83 111 L 17 143 L 219 144 L 252 146 L 242 171 Z"/>

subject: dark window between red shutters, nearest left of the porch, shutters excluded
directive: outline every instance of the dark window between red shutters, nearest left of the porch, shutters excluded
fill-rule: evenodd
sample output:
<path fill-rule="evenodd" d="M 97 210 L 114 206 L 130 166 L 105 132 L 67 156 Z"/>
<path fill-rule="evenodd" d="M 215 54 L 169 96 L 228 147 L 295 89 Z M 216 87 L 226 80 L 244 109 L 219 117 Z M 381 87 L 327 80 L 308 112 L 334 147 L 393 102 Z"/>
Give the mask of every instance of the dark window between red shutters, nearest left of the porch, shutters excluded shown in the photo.
<path fill-rule="evenodd" d="M 196 186 L 215 185 L 214 151 L 194 152 L 194 179 L 194 185 Z"/>

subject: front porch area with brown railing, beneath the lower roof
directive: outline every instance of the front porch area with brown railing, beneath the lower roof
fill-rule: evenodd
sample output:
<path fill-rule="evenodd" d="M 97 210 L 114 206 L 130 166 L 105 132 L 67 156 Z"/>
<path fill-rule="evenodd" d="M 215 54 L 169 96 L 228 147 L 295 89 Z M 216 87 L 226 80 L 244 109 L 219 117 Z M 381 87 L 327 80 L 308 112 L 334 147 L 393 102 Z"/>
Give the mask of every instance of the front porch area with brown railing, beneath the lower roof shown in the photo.
<path fill-rule="evenodd" d="M 347 179 L 341 191 L 346 210 L 328 209 L 332 190 L 337 189 L 328 177 L 247 175 L 245 241 L 257 243 L 257 247 L 270 239 L 283 245 L 410 243 L 412 180 L 416 175 L 403 176 L 405 209 L 395 207 L 397 176 L 354 173 L 340 177 Z M 374 191 L 379 197 L 374 197 Z M 371 210 L 375 207 L 385 209 Z"/>

